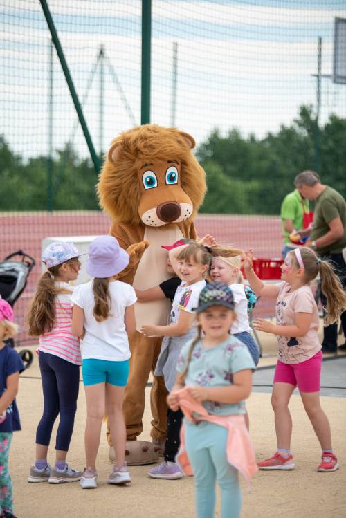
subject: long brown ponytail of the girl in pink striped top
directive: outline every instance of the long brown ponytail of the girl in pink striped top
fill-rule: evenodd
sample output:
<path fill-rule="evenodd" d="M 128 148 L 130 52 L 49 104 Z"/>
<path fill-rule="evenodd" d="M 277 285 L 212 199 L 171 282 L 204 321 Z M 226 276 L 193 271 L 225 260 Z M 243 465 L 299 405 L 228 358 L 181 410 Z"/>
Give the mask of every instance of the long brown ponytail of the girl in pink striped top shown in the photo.
<path fill-rule="evenodd" d="M 54 285 L 54 276 L 60 265 L 44 272 L 37 283 L 35 295 L 30 303 L 26 322 L 29 336 L 40 336 L 51 331 L 55 322 L 55 296 L 60 293 Z"/>

